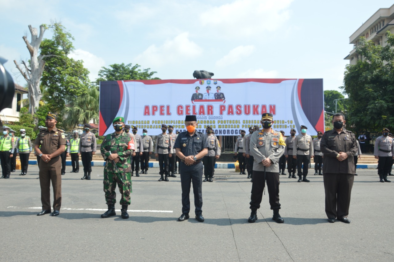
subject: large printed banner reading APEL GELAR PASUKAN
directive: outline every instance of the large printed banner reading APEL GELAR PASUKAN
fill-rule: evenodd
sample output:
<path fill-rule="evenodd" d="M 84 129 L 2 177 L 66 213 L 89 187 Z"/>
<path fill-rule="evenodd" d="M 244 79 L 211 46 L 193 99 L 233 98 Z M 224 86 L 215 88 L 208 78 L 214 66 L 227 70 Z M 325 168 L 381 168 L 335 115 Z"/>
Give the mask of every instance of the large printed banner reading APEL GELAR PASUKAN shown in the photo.
<path fill-rule="evenodd" d="M 112 120 L 161 133 L 162 124 L 186 131 L 185 115 L 197 115 L 197 130 L 212 126 L 217 136 L 248 133 L 263 113 L 272 113 L 275 130 L 290 134 L 324 131 L 323 79 L 192 79 L 100 82 L 100 136 L 114 132 Z"/>

